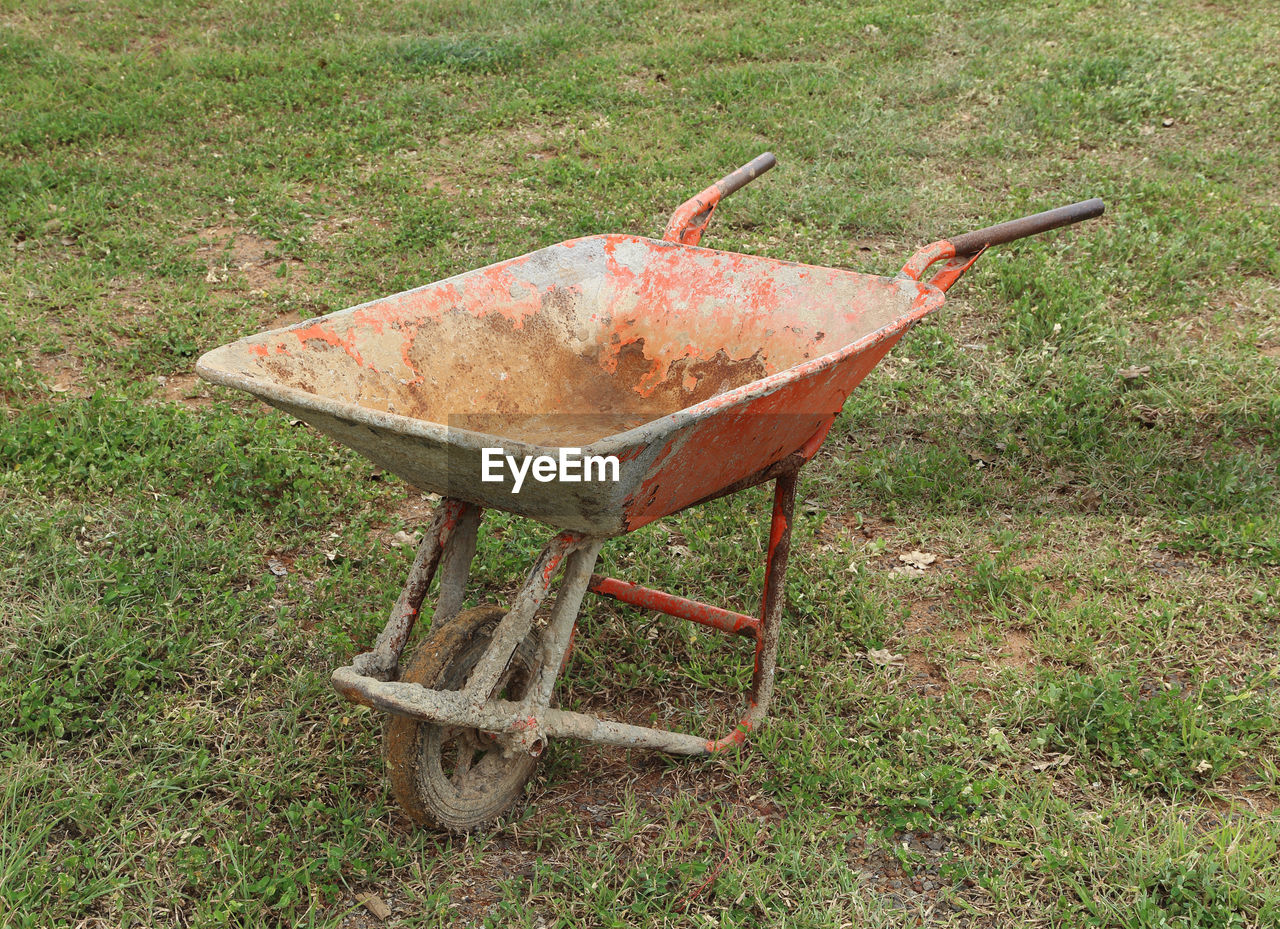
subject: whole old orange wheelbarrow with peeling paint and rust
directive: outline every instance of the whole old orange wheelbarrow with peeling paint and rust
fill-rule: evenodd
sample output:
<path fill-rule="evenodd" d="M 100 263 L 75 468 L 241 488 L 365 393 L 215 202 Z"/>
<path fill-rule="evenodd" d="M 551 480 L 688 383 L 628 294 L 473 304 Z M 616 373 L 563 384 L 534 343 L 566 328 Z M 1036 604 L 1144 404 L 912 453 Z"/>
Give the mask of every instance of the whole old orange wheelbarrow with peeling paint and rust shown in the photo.
<path fill-rule="evenodd" d="M 740 745 L 773 695 L 796 476 L 845 398 L 986 248 L 1103 209 L 941 239 L 893 278 L 698 247 L 719 201 L 774 164 L 760 155 L 689 200 L 662 241 L 571 239 L 200 360 L 207 380 L 442 496 L 385 628 L 333 673 L 339 694 L 389 714 L 389 781 L 415 820 L 490 822 L 550 738 L 680 755 Z M 767 481 L 759 613 L 593 573 L 607 539 Z M 554 534 L 506 607 L 463 610 L 486 508 Z M 436 576 L 431 627 L 402 664 Z M 556 708 L 588 591 L 750 639 L 741 722 L 708 738 Z"/>

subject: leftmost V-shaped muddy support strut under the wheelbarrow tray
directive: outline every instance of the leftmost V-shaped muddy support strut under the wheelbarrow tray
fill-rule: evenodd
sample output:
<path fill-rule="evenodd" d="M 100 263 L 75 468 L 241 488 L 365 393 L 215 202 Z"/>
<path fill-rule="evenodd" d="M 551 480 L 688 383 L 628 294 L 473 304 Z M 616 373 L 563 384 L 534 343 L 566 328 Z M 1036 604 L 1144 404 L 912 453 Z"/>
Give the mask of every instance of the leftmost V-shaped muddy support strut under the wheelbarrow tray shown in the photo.
<path fill-rule="evenodd" d="M 357 655 L 352 662 L 358 673 L 379 681 L 396 678 L 404 642 L 413 631 L 413 623 L 442 558 L 444 566 L 434 619 L 445 622 L 458 612 L 466 596 L 471 559 L 475 557 L 480 514 L 479 507 L 462 500 L 447 499 L 436 507 L 431 525 L 422 535 L 404 589 L 392 607 L 387 626 L 379 633 L 374 647 Z"/>

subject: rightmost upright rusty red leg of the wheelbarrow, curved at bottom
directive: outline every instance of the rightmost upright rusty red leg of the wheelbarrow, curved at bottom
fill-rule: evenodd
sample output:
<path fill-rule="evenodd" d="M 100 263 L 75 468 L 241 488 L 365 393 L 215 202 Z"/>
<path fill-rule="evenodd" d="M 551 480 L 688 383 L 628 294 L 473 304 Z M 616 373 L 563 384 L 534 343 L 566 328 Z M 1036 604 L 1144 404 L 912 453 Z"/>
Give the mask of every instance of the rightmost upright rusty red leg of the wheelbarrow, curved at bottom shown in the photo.
<path fill-rule="evenodd" d="M 778 667 L 778 631 L 786 601 L 787 557 L 791 554 L 791 514 L 795 511 L 799 470 L 788 471 L 773 484 L 773 517 L 769 521 L 769 554 L 764 568 L 764 598 L 760 604 L 760 626 L 755 633 L 755 669 L 746 714 L 737 727 L 714 742 L 707 751 L 716 752 L 741 745 L 769 710 L 773 700 L 773 678 Z"/>

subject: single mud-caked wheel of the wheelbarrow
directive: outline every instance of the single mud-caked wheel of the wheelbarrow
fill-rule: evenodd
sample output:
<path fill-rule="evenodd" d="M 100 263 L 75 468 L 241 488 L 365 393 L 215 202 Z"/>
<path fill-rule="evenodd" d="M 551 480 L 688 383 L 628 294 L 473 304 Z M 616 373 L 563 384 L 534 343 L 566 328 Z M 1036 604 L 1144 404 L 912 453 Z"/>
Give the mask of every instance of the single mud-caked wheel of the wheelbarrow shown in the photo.
<path fill-rule="evenodd" d="M 431 630 L 399 679 L 462 690 L 506 613 L 500 607 L 477 607 Z M 536 671 L 530 637 L 516 649 L 494 696 L 520 700 Z M 383 731 L 383 752 L 392 793 L 403 810 L 422 825 L 449 832 L 471 832 L 500 816 L 524 795 L 538 766 L 538 759 L 522 751 L 503 755 L 502 743 L 479 729 L 398 715 Z"/>

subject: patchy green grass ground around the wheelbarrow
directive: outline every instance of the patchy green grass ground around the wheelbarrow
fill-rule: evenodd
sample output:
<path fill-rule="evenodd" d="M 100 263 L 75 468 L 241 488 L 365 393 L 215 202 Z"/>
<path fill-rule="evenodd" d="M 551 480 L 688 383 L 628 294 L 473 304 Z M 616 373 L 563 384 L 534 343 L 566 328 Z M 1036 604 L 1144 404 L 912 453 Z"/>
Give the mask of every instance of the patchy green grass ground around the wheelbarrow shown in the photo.
<path fill-rule="evenodd" d="M 0 924 L 362 925 L 375 892 L 399 925 L 1275 925 L 1275 13 L 5 0 Z M 890 274 L 1108 210 L 993 250 L 855 392 L 748 750 L 558 743 L 493 832 L 412 829 L 328 669 L 426 504 L 195 357 L 655 234 L 764 148 L 708 244 Z M 748 609 L 764 505 L 605 567 Z M 544 532 L 486 525 L 500 601 Z M 595 601 L 581 633 L 568 705 L 710 728 L 745 683 L 673 621 Z"/>

